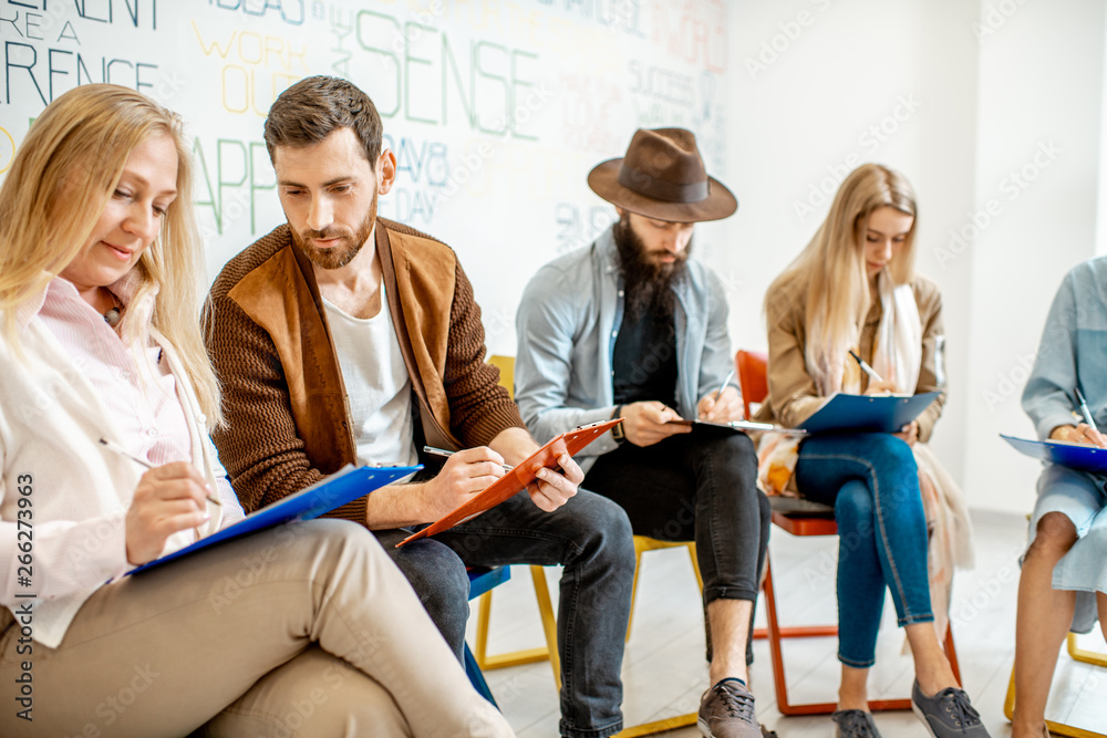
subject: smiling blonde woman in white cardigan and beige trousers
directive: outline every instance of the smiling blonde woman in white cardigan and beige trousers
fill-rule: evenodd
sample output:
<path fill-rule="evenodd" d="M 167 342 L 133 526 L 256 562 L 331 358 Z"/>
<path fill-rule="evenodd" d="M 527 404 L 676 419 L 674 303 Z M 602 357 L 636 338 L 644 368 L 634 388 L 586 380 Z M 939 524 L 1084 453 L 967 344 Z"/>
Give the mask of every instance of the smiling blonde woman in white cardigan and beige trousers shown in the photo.
<path fill-rule="evenodd" d="M 511 735 L 358 526 L 124 578 L 242 517 L 205 427 L 188 149 L 175 114 L 85 85 L 0 189 L 0 734 Z"/>

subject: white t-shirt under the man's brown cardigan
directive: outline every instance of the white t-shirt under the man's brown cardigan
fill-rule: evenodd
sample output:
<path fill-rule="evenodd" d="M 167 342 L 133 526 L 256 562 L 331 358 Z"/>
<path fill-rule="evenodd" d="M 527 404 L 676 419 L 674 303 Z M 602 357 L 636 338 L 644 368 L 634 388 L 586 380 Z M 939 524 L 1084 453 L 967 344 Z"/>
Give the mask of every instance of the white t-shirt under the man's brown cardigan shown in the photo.
<path fill-rule="evenodd" d="M 323 298 L 345 382 L 358 464 L 414 465 L 411 378 L 381 284 L 381 312 L 353 318 Z"/>

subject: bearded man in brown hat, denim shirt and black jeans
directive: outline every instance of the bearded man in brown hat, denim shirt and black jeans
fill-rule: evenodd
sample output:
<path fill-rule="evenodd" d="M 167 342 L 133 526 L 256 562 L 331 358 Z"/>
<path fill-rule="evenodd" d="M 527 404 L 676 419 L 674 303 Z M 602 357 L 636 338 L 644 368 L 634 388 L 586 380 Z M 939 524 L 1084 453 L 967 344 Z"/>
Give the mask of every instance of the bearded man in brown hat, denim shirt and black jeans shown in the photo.
<path fill-rule="evenodd" d="M 746 667 L 770 512 L 754 445 L 673 423 L 743 415 L 723 284 L 691 258 L 695 224 L 731 216 L 737 201 L 682 128 L 638 131 L 627 156 L 597 166 L 588 184 L 619 221 L 527 285 L 516 402 L 539 443 L 625 418 L 577 456 L 581 487 L 619 502 L 635 534 L 695 541 L 711 662 L 700 729 L 756 738 Z"/>

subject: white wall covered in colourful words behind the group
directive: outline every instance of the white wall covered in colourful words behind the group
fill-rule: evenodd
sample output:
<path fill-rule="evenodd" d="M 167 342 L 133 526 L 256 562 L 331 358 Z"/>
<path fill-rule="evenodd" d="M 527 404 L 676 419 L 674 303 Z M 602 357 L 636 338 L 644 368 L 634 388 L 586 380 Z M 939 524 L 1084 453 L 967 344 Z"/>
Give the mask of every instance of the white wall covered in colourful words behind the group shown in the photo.
<path fill-rule="evenodd" d="M 380 214 L 462 256 L 486 313 L 514 315 L 482 263 L 541 263 L 614 218 L 589 169 L 638 127 L 696 133 L 725 180 L 724 0 L 0 0 L 0 177 L 34 117 L 110 82 L 180 113 L 209 278 L 283 222 L 262 141 L 312 74 L 373 98 L 397 179 Z M 490 336 L 490 343 L 492 343 Z"/>

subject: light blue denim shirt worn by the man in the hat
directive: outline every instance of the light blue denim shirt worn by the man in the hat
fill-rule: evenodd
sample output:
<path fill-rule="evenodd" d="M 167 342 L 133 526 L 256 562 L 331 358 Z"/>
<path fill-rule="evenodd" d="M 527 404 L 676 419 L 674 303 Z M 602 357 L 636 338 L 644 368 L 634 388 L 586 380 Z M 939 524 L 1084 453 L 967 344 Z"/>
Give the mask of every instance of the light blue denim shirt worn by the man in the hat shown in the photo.
<path fill-rule="evenodd" d="M 676 412 L 696 416 L 699 399 L 718 391 L 734 366 L 723 283 L 689 259 L 676 295 Z M 515 402 L 539 443 L 615 410 L 611 357 L 623 316 L 619 256 L 609 228 L 590 247 L 538 270 L 516 316 Z M 731 382 L 733 386 L 737 386 Z M 618 444 L 604 434 L 577 455 L 586 471 Z"/>

